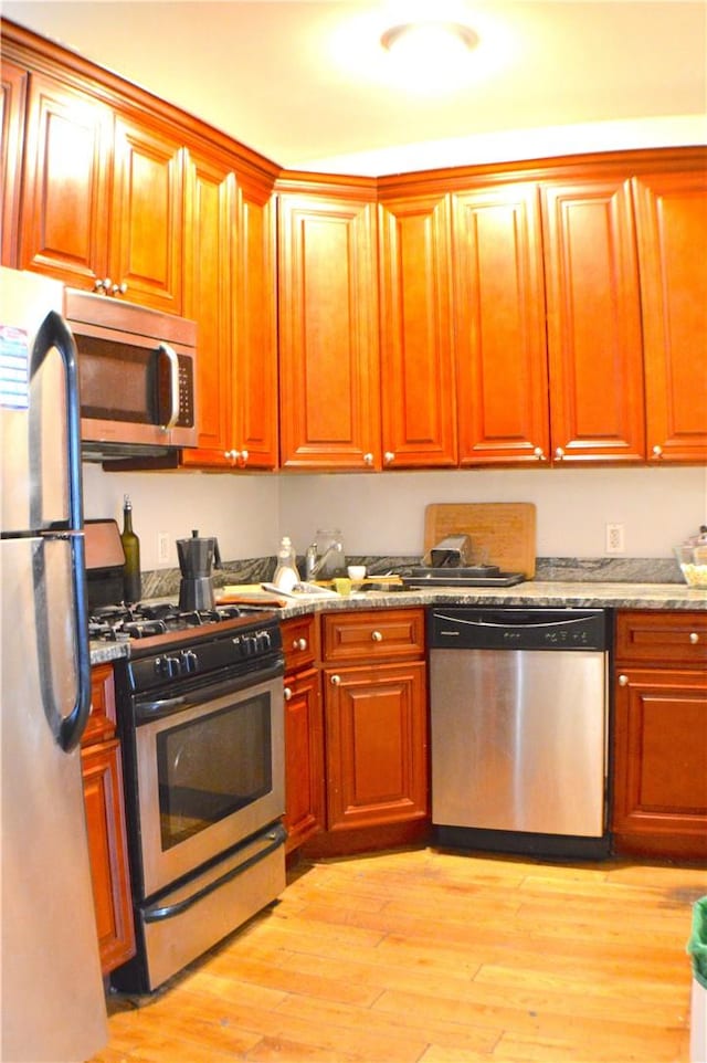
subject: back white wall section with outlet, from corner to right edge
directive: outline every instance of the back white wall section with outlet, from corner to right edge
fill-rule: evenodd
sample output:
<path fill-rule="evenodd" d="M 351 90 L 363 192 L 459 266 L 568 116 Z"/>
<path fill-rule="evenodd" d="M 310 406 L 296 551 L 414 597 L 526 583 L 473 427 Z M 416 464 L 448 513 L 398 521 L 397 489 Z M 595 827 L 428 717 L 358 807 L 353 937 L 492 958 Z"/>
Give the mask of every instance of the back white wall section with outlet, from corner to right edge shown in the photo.
<path fill-rule="evenodd" d="M 626 557 L 669 557 L 707 523 L 707 469 L 532 469 L 281 476 L 281 522 L 298 550 L 340 528 L 349 554 L 421 554 L 431 502 L 534 502 L 539 557 L 602 557 L 605 524 Z"/>

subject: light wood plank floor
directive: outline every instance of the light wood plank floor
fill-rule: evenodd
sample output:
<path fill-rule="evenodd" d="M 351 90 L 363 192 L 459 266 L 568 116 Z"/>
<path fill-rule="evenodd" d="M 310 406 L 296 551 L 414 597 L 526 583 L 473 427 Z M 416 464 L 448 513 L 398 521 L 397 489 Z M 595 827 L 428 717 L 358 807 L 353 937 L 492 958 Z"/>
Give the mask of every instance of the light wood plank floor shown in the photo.
<path fill-rule="evenodd" d="M 704 870 L 416 849 L 289 877 L 156 999 L 112 998 L 95 1063 L 689 1057 Z"/>

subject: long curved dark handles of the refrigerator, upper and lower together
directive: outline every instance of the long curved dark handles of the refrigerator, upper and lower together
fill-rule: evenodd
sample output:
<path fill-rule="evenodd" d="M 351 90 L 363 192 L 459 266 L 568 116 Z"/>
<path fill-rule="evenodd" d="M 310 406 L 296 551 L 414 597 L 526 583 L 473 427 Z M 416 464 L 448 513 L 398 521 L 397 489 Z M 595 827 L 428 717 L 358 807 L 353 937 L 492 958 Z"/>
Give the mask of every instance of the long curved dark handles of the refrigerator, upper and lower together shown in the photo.
<path fill-rule="evenodd" d="M 67 716 L 56 718 L 53 699 L 48 697 L 44 712 L 56 741 L 71 752 L 86 728 L 91 713 L 91 653 L 88 649 L 88 603 L 86 591 L 85 545 L 83 536 L 83 492 L 81 478 L 81 400 L 78 393 L 78 355 L 68 325 L 56 311 L 50 311 L 36 334 L 30 360 L 30 378 L 42 366 L 52 348 L 62 359 L 66 394 L 66 463 L 68 467 L 68 529 L 71 539 L 71 582 L 76 633 L 76 695 Z M 41 481 L 40 481 L 41 482 Z M 40 499 L 41 501 L 41 499 Z M 39 618 L 38 618 L 39 619 Z M 46 621 L 46 618 L 43 618 Z M 49 641 L 45 643 L 49 646 Z M 49 662 L 41 663 L 42 667 Z M 44 684 L 43 684 L 44 685 Z M 52 718 L 53 717 L 53 718 Z"/>

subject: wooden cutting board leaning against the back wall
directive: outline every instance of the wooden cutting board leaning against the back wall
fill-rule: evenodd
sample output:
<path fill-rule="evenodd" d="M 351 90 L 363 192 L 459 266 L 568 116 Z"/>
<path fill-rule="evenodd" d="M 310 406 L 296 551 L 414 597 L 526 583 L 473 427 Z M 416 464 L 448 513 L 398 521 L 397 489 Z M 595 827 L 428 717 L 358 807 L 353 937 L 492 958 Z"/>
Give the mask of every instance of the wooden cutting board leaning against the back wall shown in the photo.
<path fill-rule="evenodd" d="M 424 512 L 424 552 L 449 535 L 468 535 L 474 565 L 535 576 L 535 504 L 531 502 L 433 503 Z"/>

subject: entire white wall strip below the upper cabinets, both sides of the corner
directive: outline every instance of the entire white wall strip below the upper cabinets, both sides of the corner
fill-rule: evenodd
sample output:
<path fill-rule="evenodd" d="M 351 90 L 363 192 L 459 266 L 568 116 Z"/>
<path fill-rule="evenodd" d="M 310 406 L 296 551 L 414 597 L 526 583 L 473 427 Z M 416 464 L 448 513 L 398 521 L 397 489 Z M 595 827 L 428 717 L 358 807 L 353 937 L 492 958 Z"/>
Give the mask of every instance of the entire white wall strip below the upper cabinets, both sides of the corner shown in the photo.
<path fill-rule="evenodd" d="M 289 535 L 303 552 L 317 528 L 337 527 L 349 554 L 422 552 L 431 502 L 534 502 L 539 557 L 602 557 L 604 525 L 625 529 L 627 557 L 668 557 L 674 544 L 707 524 L 707 469 L 532 469 L 359 475 L 104 473 L 84 465 L 87 517 L 122 524 L 123 495 L 134 506 L 141 564 L 160 568 L 157 536 L 192 528 L 215 535 L 225 559 L 277 550 Z"/>

